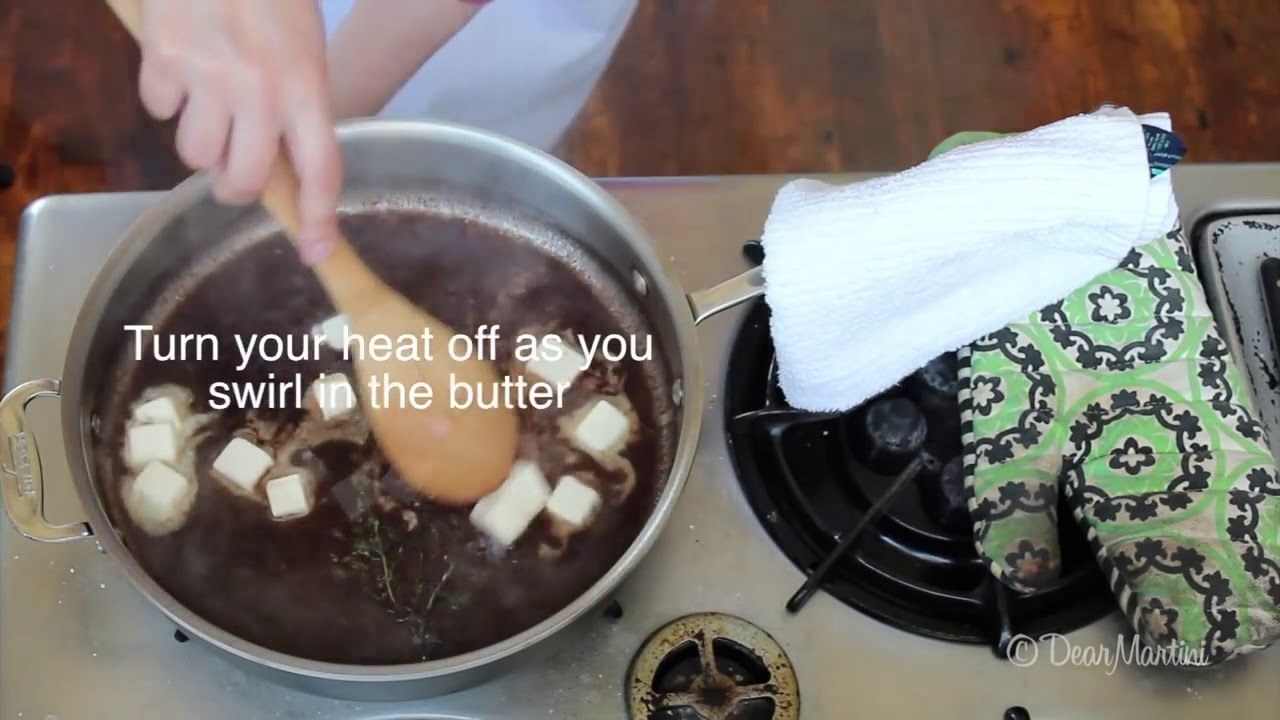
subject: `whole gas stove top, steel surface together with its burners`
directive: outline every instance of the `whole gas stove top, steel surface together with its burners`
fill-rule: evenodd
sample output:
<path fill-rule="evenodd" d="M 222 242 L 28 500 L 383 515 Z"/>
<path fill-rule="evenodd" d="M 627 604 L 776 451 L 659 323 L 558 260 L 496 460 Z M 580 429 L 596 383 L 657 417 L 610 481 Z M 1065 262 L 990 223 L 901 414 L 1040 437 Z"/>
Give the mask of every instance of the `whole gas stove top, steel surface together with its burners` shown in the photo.
<path fill-rule="evenodd" d="M 1224 213 L 1280 210 L 1280 167 L 1187 165 L 1174 173 L 1188 227 Z M 696 290 L 750 261 L 744 242 L 787 179 L 604 184 L 649 228 L 677 282 Z M 28 210 L 6 388 L 60 374 L 76 313 L 111 240 L 156 197 L 61 196 Z M 1036 597 L 1009 597 L 984 580 L 955 516 L 946 357 L 874 411 L 800 416 L 778 402 L 763 304 L 712 318 L 699 333 L 709 402 L 671 523 L 620 592 L 557 635 L 544 657 L 490 684 L 420 702 L 306 696 L 186 642 L 92 542 L 37 544 L 3 524 L 0 717 L 594 720 L 635 708 L 641 717 L 680 720 L 696 715 L 652 708 L 689 705 L 707 717 L 739 720 L 1199 720 L 1280 707 L 1280 650 L 1206 671 L 1126 662 L 1125 624 L 1087 557 L 1061 587 Z M 70 483 L 60 482 L 68 469 L 55 404 L 36 402 L 31 414 L 47 438 L 41 456 L 50 519 L 81 520 Z M 876 429 L 883 419 L 897 428 L 888 439 Z M 914 437 L 932 464 L 877 502 L 908 469 L 893 451 L 904 437 Z M 833 536 L 860 519 L 854 560 L 837 562 L 814 594 L 797 594 L 801 569 L 820 562 Z M 1038 653 L 1001 657 L 1000 648 L 1023 633 L 1061 635 L 1034 646 Z M 707 665 L 718 669 L 722 685 L 701 680 Z M 728 715 L 735 702 L 739 714 Z"/>

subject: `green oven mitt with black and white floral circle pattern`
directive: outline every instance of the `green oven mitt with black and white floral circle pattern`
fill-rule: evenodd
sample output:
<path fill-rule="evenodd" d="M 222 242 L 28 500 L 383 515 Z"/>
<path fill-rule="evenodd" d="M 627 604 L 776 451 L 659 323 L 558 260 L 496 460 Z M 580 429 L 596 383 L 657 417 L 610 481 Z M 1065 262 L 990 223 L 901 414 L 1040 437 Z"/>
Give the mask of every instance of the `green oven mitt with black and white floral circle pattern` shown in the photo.
<path fill-rule="evenodd" d="M 1180 228 L 957 356 L 969 510 L 1001 582 L 1060 577 L 1062 500 L 1172 662 L 1280 637 L 1280 478 Z"/>

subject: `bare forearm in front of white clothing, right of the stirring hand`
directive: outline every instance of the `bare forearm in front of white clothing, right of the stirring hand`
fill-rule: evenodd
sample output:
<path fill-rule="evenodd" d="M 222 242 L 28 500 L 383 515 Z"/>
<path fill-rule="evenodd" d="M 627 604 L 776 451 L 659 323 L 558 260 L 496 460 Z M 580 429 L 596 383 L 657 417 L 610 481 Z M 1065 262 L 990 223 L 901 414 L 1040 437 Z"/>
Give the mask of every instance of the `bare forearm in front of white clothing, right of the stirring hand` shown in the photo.
<path fill-rule="evenodd" d="M 329 41 L 335 119 L 378 114 L 483 4 L 357 0 Z"/>

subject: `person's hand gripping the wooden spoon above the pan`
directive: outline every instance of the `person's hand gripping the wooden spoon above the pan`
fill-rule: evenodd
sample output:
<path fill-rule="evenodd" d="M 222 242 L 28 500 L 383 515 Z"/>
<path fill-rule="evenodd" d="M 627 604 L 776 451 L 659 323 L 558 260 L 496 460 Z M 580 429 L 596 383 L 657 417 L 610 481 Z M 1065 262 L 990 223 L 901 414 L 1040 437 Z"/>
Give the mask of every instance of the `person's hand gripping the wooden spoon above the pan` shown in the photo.
<path fill-rule="evenodd" d="M 161 120 L 182 114 L 178 154 L 211 173 L 220 201 L 256 201 L 283 138 L 301 182 L 300 254 L 321 260 L 337 236 L 342 155 L 317 1 L 143 0 L 138 41 L 142 104 Z"/>

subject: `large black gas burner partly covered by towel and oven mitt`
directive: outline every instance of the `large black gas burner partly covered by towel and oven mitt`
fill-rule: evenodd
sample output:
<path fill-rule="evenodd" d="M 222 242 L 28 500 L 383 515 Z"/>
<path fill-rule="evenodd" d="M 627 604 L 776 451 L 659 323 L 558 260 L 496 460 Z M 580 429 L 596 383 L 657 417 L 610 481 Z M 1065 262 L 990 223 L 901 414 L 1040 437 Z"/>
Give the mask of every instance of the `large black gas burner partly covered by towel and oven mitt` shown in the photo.
<path fill-rule="evenodd" d="M 765 532 L 808 577 L 790 611 L 824 591 L 904 630 L 988 643 L 1007 657 L 1014 637 L 1068 633 L 1116 609 L 1071 523 L 1062 523 L 1065 574 L 1052 588 L 1018 594 L 979 560 L 954 356 L 845 414 L 787 405 L 763 301 L 748 311 L 730 357 L 726 427 L 739 482 Z"/>

